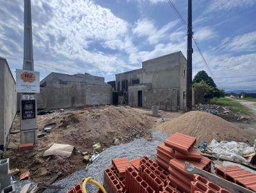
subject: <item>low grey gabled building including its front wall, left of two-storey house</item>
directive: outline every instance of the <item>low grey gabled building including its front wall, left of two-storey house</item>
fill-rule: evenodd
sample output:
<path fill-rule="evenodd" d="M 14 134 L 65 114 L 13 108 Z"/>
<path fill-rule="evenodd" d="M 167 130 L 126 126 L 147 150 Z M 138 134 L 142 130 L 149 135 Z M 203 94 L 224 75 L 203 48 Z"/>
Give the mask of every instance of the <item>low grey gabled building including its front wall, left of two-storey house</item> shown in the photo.
<path fill-rule="evenodd" d="M 50 73 L 40 82 L 38 109 L 83 107 L 112 103 L 112 87 L 89 73 Z"/>

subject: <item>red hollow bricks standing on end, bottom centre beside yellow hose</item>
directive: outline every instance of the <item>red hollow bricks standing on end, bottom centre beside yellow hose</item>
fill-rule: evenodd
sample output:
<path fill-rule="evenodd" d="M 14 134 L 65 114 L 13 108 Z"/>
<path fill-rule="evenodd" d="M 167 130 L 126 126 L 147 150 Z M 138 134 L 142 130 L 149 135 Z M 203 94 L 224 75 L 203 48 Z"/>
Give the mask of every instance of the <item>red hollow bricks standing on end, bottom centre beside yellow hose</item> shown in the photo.
<path fill-rule="evenodd" d="M 127 158 L 115 158 L 112 164 L 113 167 L 104 172 L 104 187 L 107 192 L 159 193 L 172 190 L 179 193 L 178 187 L 168 180 L 168 171 L 148 157 L 131 161 Z"/>

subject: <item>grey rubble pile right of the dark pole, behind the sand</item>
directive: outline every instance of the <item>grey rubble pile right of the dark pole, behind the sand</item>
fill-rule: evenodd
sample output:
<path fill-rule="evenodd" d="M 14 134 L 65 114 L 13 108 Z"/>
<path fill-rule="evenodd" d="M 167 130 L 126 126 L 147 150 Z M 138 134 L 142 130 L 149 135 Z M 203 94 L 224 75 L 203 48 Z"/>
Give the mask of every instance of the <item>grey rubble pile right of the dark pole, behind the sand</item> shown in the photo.
<path fill-rule="evenodd" d="M 198 104 L 193 106 L 193 111 L 204 111 L 214 114 L 228 121 L 238 121 L 243 123 L 252 124 L 252 118 L 241 116 L 241 114 L 236 112 L 228 111 L 228 109 L 221 107 L 219 105 L 212 104 Z"/>

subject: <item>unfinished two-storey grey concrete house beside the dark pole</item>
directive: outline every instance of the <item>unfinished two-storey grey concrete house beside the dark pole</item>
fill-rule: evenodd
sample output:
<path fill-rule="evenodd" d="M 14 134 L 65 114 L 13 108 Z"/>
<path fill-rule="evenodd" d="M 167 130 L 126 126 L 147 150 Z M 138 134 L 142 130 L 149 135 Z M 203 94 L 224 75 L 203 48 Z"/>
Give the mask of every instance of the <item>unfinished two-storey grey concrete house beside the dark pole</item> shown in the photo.
<path fill-rule="evenodd" d="M 175 52 L 142 62 L 142 68 L 116 74 L 113 104 L 176 111 L 186 108 L 186 58 Z"/>

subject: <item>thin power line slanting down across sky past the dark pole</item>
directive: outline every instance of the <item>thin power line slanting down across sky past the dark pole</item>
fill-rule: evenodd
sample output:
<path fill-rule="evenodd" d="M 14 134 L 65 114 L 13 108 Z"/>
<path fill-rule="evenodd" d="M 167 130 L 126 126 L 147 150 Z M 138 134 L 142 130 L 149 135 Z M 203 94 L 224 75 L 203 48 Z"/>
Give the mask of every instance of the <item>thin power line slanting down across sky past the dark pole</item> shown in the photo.
<path fill-rule="evenodd" d="M 170 6 L 173 8 L 173 10 L 175 11 L 175 14 L 177 15 L 177 17 L 180 19 L 181 23 L 183 24 L 183 26 L 187 29 L 187 22 L 186 20 L 182 17 L 181 13 L 179 12 L 177 6 L 175 6 L 175 4 L 173 3 L 172 0 L 167 0 L 168 3 L 170 4 Z M 204 55 L 196 41 L 195 36 L 192 36 L 193 41 L 195 42 L 196 48 L 198 49 L 198 52 L 200 53 L 200 56 L 202 58 L 202 60 L 204 61 L 204 65 L 207 68 L 208 72 L 211 73 L 211 76 L 214 78 L 214 75 L 211 71 L 211 68 L 209 67 L 209 63 L 207 62 L 207 60 L 204 58 Z"/>

